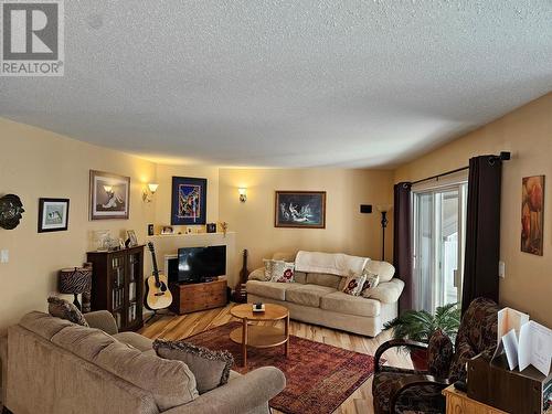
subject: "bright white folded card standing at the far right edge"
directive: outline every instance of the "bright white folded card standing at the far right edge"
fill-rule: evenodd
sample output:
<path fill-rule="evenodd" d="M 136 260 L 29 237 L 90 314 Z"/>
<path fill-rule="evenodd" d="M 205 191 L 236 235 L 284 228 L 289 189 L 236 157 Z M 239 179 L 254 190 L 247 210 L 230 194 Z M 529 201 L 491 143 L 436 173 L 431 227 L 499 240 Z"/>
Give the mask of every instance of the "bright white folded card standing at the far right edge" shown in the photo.
<path fill-rule="evenodd" d="M 532 364 L 544 375 L 548 375 L 552 358 L 552 330 L 532 320 L 523 325 L 519 338 L 518 354 L 520 371 Z M 510 369 L 512 368 L 510 367 Z"/>

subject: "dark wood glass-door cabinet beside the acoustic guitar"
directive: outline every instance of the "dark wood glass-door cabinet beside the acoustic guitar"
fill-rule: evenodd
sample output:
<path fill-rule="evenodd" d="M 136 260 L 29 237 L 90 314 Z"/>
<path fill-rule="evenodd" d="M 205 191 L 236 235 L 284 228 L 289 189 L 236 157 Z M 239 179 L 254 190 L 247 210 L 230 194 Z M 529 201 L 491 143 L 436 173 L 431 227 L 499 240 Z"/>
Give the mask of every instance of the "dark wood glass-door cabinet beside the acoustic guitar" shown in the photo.
<path fill-rule="evenodd" d="M 115 252 L 88 252 L 93 265 L 92 310 L 107 309 L 119 331 L 144 325 L 144 245 Z"/>

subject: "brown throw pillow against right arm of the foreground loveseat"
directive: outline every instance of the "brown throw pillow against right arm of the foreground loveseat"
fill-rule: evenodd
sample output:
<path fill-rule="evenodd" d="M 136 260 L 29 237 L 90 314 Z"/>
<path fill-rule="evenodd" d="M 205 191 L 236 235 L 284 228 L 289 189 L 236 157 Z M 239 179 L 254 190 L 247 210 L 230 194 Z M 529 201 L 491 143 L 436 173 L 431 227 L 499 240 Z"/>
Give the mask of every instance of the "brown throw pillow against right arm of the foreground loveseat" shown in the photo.
<path fill-rule="evenodd" d="M 153 349 L 158 357 L 184 362 L 195 376 L 200 394 L 227 383 L 234 364 L 229 351 L 211 351 L 184 341 L 156 339 Z"/>

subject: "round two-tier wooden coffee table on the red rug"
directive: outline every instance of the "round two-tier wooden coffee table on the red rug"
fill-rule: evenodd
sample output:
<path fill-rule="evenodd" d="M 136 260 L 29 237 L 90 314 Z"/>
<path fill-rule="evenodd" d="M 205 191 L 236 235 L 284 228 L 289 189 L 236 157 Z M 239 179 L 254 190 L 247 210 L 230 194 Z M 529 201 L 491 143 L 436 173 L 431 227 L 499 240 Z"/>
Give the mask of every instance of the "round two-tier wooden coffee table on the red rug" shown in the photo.
<path fill-rule="evenodd" d="M 242 367 L 247 365 L 247 347 L 270 348 L 285 343 L 285 354 L 289 352 L 289 311 L 280 305 L 265 304 L 264 312 L 254 312 L 253 304 L 234 306 L 230 314 L 242 319 L 242 326 L 230 332 L 230 339 L 242 346 Z M 253 321 L 285 319 L 284 330 L 276 327 L 250 325 Z"/>

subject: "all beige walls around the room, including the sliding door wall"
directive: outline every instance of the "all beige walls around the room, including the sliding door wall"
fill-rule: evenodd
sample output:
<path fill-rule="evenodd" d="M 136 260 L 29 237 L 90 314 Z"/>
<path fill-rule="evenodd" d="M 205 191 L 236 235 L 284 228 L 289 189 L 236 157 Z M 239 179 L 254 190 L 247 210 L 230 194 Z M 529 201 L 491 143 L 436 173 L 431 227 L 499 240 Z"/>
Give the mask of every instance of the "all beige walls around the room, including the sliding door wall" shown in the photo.
<path fill-rule="evenodd" d="M 393 180 L 416 180 L 467 164 L 469 157 L 512 151 L 503 169 L 501 257 L 507 264 L 500 283 L 503 305 L 528 311 L 552 326 L 552 184 L 545 193 L 544 256 L 521 253 L 521 178 L 552 177 L 552 94 L 444 146 L 396 171 L 354 169 L 219 169 L 217 167 L 156 166 L 123 152 L 83 144 L 42 129 L 0 118 L 0 194 L 19 194 L 26 210 L 22 224 L 0 230 L 0 250 L 10 263 L 0 264 L 0 331 L 30 309 L 45 309 L 45 297 L 56 289 L 56 272 L 79 265 L 91 248 L 94 230 L 119 234 L 134 229 L 145 241 L 146 225 L 169 224 L 172 176 L 208 178 L 208 221 L 227 221 L 236 232 L 236 255 L 251 253 L 250 269 L 276 251 L 318 250 L 380 257 L 380 215 L 360 214 L 359 205 L 392 203 Z M 98 169 L 131 177 L 130 220 L 88 221 L 88 171 Z M 147 182 L 160 184 L 152 203 L 144 203 Z M 240 203 L 237 188 L 247 188 Z M 275 190 L 328 192 L 325 230 L 274 227 Z M 40 197 L 71 199 L 67 232 L 36 232 Z M 386 258 L 392 256 L 392 221 Z M 146 274 L 148 274 L 146 268 Z"/>

